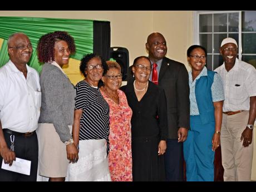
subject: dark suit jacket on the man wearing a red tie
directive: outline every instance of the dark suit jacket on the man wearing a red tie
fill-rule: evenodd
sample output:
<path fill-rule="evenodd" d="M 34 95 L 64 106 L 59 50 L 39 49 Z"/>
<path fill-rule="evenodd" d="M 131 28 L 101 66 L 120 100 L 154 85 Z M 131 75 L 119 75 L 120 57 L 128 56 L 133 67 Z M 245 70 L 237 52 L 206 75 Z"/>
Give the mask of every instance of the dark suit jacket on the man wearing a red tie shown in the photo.
<path fill-rule="evenodd" d="M 183 63 L 163 58 L 159 86 L 164 89 L 168 113 L 168 139 L 177 139 L 179 127 L 189 129 L 189 75 Z"/>

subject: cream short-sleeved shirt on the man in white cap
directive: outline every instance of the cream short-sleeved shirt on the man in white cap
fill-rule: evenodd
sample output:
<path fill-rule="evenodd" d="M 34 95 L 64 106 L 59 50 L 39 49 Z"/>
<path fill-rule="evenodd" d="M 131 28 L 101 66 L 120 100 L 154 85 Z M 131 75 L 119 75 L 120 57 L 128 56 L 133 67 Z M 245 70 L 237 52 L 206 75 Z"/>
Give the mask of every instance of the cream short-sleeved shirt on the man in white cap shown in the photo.
<path fill-rule="evenodd" d="M 218 72 L 223 80 L 225 95 L 223 112 L 248 111 L 250 109 L 250 97 L 256 96 L 255 68 L 237 58 L 234 67 L 229 72 L 224 63 L 214 71 Z"/>

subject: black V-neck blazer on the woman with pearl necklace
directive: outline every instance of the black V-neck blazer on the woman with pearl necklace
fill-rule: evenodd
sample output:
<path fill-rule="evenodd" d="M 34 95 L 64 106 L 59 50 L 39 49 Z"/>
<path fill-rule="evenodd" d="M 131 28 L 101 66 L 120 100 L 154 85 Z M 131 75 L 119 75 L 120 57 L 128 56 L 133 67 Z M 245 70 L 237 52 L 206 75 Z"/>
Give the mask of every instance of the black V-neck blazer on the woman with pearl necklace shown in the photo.
<path fill-rule="evenodd" d="M 143 137 L 167 139 L 167 112 L 164 90 L 149 81 L 147 92 L 140 101 L 134 91 L 134 81 L 122 86 L 129 106 L 132 109 L 131 136 L 132 140 Z"/>

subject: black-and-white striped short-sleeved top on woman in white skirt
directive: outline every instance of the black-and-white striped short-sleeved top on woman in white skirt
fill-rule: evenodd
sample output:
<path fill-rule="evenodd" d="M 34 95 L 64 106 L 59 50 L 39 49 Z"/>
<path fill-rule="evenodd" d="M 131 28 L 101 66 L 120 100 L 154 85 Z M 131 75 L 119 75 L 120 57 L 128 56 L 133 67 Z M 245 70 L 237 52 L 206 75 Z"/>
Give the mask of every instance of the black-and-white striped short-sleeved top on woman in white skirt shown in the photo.
<path fill-rule="evenodd" d="M 99 88 L 90 86 L 86 81 L 78 82 L 75 109 L 83 110 L 79 140 L 106 139 L 109 154 L 109 104 Z"/>

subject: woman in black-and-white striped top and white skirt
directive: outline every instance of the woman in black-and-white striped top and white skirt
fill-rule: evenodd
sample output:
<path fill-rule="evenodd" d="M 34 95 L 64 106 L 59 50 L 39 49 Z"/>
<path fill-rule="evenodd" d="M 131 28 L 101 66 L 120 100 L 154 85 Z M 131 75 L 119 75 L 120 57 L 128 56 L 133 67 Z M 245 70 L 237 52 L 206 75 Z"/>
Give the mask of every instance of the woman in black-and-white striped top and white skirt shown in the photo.
<path fill-rule="evenodd" d="M 94 53 L 82 58 L 85 79 L 76 85 L 72 135 L 79 160 L 69 166 L 70 181 L 111 181 L 109 172 L 109 105 L 98 83 L 107 71 L 104 59 Z"/>

